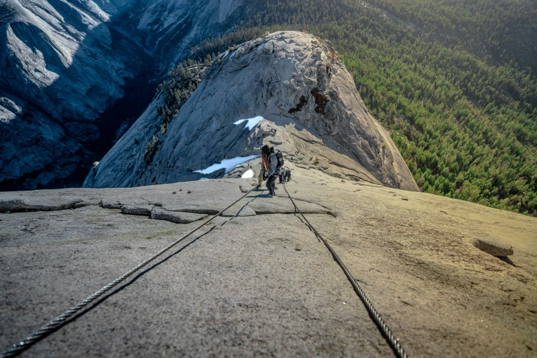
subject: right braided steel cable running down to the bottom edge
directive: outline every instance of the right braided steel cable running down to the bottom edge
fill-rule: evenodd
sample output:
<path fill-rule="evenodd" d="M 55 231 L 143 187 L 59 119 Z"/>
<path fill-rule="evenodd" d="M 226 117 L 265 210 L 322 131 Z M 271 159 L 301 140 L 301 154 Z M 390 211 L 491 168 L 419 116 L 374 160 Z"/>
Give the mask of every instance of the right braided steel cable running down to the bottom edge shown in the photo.
<path fill-rule="evenodd" d="M 399 358 L 407 358 L 407 353 L 405 353 L 405 350 L 401 346 L 401 343 L 399 343 L 399 339 L 394 335 L 394 333 L 392 333 L 392 330 L 390 329 L 390 327 L 388 327 L 385 324 L 379 311 L 377 311 L 377 309 L 374 308 L 368 296 L 366 296 L 366 293 L 363 291 L 363 289 L 361 289 L 360 285 L 358 285 L 353 275 L 350 274 L 349 270 L 347 269 L 343 261 L 339 259 L 339 256 L 337 256 L 337 254 L 335 253 L 333 248 L 330 246 L 330 244 L 324 239 L 324 237 L 320 235 L 320 233 L 313 227 L 313 225 L 310 224 L 308 219 L 304 216 L 304 214 L 302 214 L 302 211 L 300 211 L 300 208 L 296 206 L 293 198 L 291 198 L 291 195 L 289 195 L 289 191 L 287 191 L 287 188 L 285 187 L 285 182 L 283 183 L 283 189 L 285 189 L 285 193 L 287 193 L 287 196 L 289 197 L 289 199 L 291 199 L 291 202 L 295 206 L 295 209 L 298 210 L 298 213 L 300 213 L 300 215 L 302 215 L 302 217 L 305 219 L 309 228 L 313 230 L 313 232 L 315 232 L 315 236 L 317 236 L 322 241 L 322 243 L 324 243 L 324 246 L 326 246 L 326 248 L 330 251 L 335 262 L 337 262 L 339 267 L 342 268 L 343 272 L 345 273 L 345 276 L 347 276 L 348 281 L 350 281 L 350 284 L 353 285 L 356 293 L 358 294 L 359 298 L 363 302 L 363 305 L 365 305 L 366 309 L 368 309 L 370 316 L 373 318 L 375 324 L 377 324 L 377 326 L 379 327 L 379 330 L 381 331 L 382 335 L 386 339 L 387 343 L 390 344 L 390 347 L 392 347 L 392 349 L 394 350 L 395 355 Z"/>

